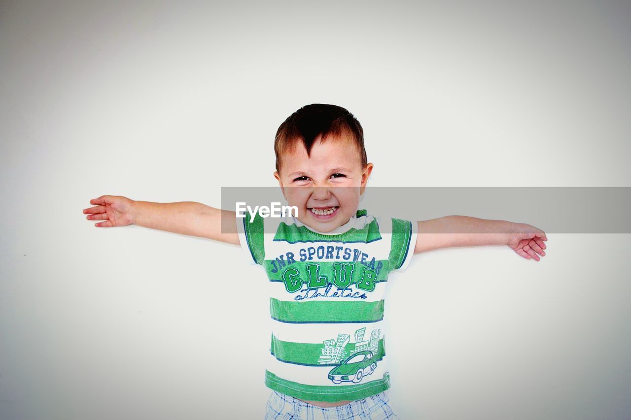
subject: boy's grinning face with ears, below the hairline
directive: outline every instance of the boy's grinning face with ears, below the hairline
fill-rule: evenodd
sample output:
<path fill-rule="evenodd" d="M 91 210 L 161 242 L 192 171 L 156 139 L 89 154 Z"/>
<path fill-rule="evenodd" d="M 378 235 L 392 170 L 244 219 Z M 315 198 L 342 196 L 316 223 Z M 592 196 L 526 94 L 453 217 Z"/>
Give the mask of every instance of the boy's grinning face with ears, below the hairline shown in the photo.
<path fill-rule="evenodd" d="M 274 172 L 290 206 L 298 207 L 298 220 L 321 232 L 344 225 L 357 213 L 372 163 L 362 167 L 357 146 L 349 139 L 329 137 L 315 141 L 307 156 L 302 141 L 280 156 L 280 173 Z"/>

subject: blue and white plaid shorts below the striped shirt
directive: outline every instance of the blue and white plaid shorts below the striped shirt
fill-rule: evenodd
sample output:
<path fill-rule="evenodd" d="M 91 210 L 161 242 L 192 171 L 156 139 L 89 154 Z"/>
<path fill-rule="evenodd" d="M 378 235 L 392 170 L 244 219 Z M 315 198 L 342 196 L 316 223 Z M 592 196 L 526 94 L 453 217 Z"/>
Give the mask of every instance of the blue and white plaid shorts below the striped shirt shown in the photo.
<path fill-rule="evenodd" d="M 398 419 L 388 405 L 385 392 L 338 407 L 318 407 L 302 400 L 272 391 L 265 420 L 382 420 Z"/>

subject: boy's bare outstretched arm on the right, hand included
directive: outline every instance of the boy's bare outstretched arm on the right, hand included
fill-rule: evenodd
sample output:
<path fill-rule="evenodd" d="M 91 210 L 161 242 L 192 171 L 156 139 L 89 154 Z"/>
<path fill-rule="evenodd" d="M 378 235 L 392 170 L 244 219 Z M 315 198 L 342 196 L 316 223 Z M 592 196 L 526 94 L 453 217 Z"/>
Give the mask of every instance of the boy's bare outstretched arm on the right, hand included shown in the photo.
<path fill-rule="evenodd" d="M 487 220 L 469 216 L 444 216 L 418 221 L 414 252 L 437 248 L 507 245 L 526 259 L 540 260 L 548 238 L 543 230 L 526 223 Z"/>

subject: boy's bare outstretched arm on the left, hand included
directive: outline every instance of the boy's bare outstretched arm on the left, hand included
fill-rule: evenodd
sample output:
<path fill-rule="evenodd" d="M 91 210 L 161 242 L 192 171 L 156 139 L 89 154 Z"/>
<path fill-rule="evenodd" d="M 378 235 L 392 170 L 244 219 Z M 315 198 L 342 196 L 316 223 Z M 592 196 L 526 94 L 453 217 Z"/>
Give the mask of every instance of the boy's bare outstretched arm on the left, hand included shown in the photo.
<path fill-rule="evenodd" d="M 98 228 L 133 224 L 239 245 L 235 227 L 237 214 L 201 202 L 134 201 L 121 195 L 102 195 L 91 199 L 90 204 L 97 206 L 83 209 L 83 213 L 88 214 L 86 218 L 89 220 L 103 220 L 95 223 Z M 225 226 L 223 232 L 222 220 Z"/>

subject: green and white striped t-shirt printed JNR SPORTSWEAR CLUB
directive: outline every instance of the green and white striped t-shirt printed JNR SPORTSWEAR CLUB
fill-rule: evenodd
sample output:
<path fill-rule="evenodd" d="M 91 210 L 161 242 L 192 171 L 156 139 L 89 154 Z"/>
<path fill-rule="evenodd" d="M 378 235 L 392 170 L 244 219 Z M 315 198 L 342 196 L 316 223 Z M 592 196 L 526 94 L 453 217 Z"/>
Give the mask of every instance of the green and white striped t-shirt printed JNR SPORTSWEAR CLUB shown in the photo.
<path fill-rule="evenodd" d="M 390 387 L 384 328 L 388 274 L 405 269 L 417 225 L 358 210 L 330 233 L 293 216 L 237 218 L 242 249 L 269 279 L 265 384 L 304 400 L 358 400 Z"/>

